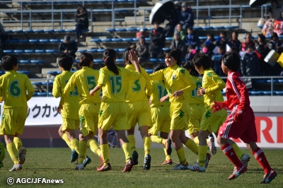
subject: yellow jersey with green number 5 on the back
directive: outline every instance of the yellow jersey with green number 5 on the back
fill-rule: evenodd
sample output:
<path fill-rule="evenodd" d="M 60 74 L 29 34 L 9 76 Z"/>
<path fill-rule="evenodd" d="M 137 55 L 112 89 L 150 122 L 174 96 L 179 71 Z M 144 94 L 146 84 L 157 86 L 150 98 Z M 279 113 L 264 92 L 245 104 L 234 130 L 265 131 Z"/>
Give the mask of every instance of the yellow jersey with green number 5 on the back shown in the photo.
<path fill-rule="evenodd" d="M 89 91 L 96 87 L 98 81 L 99 71 L 94 70 L 88 66 L 84 66 L 81 70 L 76 71 L 71 78 L 69 79 L 67 85 L 64 88 L 64 93 L 60 100 L 60 105 L 63 105 L 67 94 L 69 94 L 74 87 L 78 89 L 79 98 L 81 101 L 79 102 L 80 105 L 83 103 L 101 103 L 100 95 L 95 95 L 91 97 Z M 100 93 L 100 90 L 98 91 Z"/>

